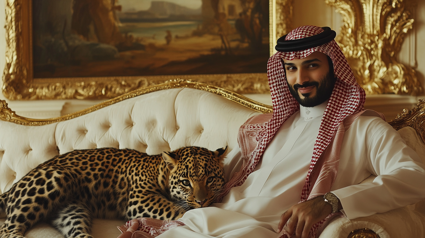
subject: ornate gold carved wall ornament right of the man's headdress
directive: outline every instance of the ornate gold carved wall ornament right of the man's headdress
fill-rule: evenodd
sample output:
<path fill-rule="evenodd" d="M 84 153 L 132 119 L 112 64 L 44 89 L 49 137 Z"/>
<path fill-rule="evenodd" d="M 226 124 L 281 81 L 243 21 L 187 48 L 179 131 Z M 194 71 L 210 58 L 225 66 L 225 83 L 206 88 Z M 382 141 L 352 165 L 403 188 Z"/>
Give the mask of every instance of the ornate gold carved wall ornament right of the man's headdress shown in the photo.
<path fill-rule="evenodd" d="M 412 1 L 410 1 L 412 2 Z M 416 72 L 398 62 L 412 28 L 406 0 L 326 0 L 343 18 L 335 38 L 367 94 L 422 93 Z"/>

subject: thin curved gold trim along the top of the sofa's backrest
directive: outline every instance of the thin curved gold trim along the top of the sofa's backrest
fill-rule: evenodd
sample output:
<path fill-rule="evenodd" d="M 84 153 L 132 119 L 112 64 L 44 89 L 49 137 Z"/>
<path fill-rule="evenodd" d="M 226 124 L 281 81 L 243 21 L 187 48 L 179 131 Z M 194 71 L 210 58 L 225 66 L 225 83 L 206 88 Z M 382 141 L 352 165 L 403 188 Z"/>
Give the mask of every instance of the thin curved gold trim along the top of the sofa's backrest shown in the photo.
<path fill-rule="evenodd" d="M 29 126 L 47 125 L 47 124 L 51 124 L 55 122 L 66 121 L 78 116 L 82 116 L 87 113 L 96 111 L 100 108 L 104 108 L 106 106 L 112 105 L 116 102 L 121 102 L 128 98 L 133 98 L 135 96 L 139 96 L 142 94 L 148 94 L 151 92 L 160 91 L 164 89 L 170 89 L 170 88 L 196 88 L 199 90 L 204 90 L 204 91 L 208 91 L 214 94 L 224 96 L 225 98 L 229 100 L 232 100 L 238 104 L 244 105 L 247 108 L 252 108 L 253 110 L 261 112 L 261 113 L 272 112 L 271 106 L 264 105 L 259 102 L 255 102 L 251 99 L 248 99 L 240 94 L 229 91 L 227 89 L 219 88 L 217 86 L 209 85 L 209 84 L 205 84 L 201 82 L 191 82 L 190 80 L 186 80 L 186 79 L 173 79 L 173 80 L 168 80 L 167 82 L 162 84 L 150 85 L 144 88 L 137 89 L 135 91 L 124 92 L 122 95 L 117 96 L 116 98 L 106 100 L 105 102 L 91 106 L 90 108 L 87 108 L 85 110 L 77 111 L 75 113 L 71 113 L 68 115 L 59 116 L 59 117 L 55 117 L 51 119 L 31 119 L 31 118 L 26 118 L 23 116 L 18 116 L 16 115 L 14 111 L 11 111 L 11 109 L 8 108 L 6 101 L 0 100 L 0 120 L 6 121 L 6 122 L 13 122 L 20 125 L 29 125 Z"/>

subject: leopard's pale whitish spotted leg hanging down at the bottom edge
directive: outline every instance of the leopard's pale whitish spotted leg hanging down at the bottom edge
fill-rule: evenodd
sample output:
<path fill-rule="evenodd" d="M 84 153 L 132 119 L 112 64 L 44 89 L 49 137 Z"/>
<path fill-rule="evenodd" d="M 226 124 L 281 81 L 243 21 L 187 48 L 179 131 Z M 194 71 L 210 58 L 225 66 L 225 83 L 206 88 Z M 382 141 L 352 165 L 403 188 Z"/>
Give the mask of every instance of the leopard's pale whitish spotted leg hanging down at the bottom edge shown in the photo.
<path fill-rule="evenodd" d="M 58 210 L 51 222 L 67 238 L 93 238 L 89 235 L 92 219 L 84 204 L 72 201 Z"/>

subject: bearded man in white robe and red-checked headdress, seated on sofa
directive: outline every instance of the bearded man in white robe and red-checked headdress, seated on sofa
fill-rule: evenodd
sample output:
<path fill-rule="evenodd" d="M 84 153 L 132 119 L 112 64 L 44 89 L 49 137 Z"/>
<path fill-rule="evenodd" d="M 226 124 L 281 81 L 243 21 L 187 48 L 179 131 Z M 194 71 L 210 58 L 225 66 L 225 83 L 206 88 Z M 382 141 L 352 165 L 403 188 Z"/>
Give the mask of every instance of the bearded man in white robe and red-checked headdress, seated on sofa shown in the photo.
<path fill-rule="evenodd" d="M 221 203 L 186 212 L 168 224 L 185 226 L 159 238 L 313 238 L 339 211 L 354 219 L 425 197 L 424 165 L 363 109 L 365 92 L 334 37 L 302 26 L 278 40 L 268 63 L 273 113 L 242 125 Z M 373 183 L 359 184 L 371 174 Z"/>

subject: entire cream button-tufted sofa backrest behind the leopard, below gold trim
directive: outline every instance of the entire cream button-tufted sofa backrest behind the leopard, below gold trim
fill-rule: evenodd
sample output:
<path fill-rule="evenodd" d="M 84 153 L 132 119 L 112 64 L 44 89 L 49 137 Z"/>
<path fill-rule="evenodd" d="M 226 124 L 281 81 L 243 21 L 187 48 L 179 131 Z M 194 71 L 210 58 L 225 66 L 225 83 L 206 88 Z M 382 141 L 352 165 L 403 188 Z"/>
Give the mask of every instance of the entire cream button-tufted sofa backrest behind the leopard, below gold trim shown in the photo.
<path fill-rule="evenodd" d="M 217 94 L 172 88 L 49 125 L 0 121 L 0 193 L 38 164 L 72 150 L 115 147 L 148 154 L 184 146 L 231 150 L 238 146 L 239 127 L 257 114 Z"/>

